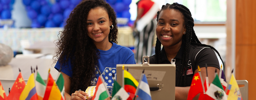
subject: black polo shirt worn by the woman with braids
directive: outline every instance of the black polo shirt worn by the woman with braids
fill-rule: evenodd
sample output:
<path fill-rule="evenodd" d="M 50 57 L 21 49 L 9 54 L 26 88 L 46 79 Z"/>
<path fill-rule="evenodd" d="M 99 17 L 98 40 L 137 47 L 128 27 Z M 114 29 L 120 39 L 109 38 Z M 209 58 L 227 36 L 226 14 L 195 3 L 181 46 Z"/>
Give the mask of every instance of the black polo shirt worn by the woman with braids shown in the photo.
<path fill-rule="evenodd" d="M 179 84 L 177 84 L 178 82 L 177 80 L 179 77 L 179 73 L 181 73 L 182 54 L 183 54 L 184 47 L 185 47 L 185 43 L 183 42 L 176 57 L 172 59 L 171 62 L 168 60 L 166 56 L 165 49 L 162 48 L 161 50 L 160 64 L 176 65 L 176 86 L 179 86 Z M 155 55 L 150 57 L 150 64 L 155 64 Z M 207 64 L 207 66 L 216 67 L 220 69 L 218 58 L 213 49 L 209 47 L 199 47 L 199 46 L 191 45 L 190 51 L 189 51 L 189 61 L 187 62 L 188 70 L 186 75 L 186 86 L 191 85 L 193 75 L 195 74 L 194 72 L 198 68 L 197 66 L 199 65 L 200 67 L 206 67 L 205 64 Z M 210 71 L 215 72 L 215 70 L 208 70 L 208 72 Z M 184 84 L 184 80 L 182 80 L 181 84 Z"/>

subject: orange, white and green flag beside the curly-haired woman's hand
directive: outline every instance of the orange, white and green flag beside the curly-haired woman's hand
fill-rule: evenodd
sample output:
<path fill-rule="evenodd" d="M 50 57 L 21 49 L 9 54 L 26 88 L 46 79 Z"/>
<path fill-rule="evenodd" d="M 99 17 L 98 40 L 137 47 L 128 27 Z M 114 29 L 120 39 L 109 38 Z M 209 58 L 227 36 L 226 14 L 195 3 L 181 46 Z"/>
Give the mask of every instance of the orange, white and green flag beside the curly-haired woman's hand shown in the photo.
<path fill-rule="evenodd" d="M 101 75 L 99 75 L 97 84 L 96 84 L 96 90 L 93 95 L 93 99 L 91 100 L 104 100 L 107 97 L 110 97 L 109 91 L 107 90 L 107 87 L 105 85 L 105 82 Z"/>

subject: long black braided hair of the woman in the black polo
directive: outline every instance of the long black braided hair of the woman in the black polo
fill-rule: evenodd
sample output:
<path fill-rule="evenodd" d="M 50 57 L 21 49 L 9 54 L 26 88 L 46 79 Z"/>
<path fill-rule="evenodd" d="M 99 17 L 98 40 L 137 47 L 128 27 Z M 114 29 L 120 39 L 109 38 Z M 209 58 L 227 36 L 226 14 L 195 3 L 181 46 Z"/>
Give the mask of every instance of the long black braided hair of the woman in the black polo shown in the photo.
<path fill-rule="evenodd" d="M 169 4 L 167 3 L 166 5 L 163 5 L 161 10 L 157 12 L 157 21 L 158 21 L 158 17 L 159 14 L 162 10 L 165 9 L 176 9 L 179 10 L 182 15 L 183 15 L 183 19 L 184 19 L 184 25 L 186 25 L 186 34 L 182 36 L 183 40 L 185 40 L 185 48 L 183 51 L 183 55 L 182 55 L 182 65 L 181 65 L 181 70 L 185 69 L 182 73 L 179 73 L 179 80 L 178 82 L 176 82 L 176 86 L 186 86 L 186 71 L 187 71 L 187 62 L 189 60 L 189 50 L 190 50 L 190 45 L 197 45 L 197 46 L 202 46 L 202 47 L 209 47 L 211 49 L 213 49 L 214 51 L 216 51 L 216 53 L 218 54 L 219 58 L 221 59 L 222 63 L 223 60 L 221 58 L 221 56 L 219 55 L 219 52 L 212 46 L 210 45 L 206 45 L 206 44 L 202 44 L 198 38 L 197 35 L 195 35 L 195 31 L 194 31 L 194 19 L 192 18 L 191 12 L 190 10 L 178 3 L 173 3 L 173 4 Z M 161 42 L 158 40 L 157 38 L 157 42 L 155 44 L 155 64 L 161 64 Z M 224 67 L 224 63 L 223 63 L 223 67 Z M 184 74 L 184 78 L 182 77 Z M 182 82 L 182 80 L 184 80 L 184 84 L 180 84 Z"/>

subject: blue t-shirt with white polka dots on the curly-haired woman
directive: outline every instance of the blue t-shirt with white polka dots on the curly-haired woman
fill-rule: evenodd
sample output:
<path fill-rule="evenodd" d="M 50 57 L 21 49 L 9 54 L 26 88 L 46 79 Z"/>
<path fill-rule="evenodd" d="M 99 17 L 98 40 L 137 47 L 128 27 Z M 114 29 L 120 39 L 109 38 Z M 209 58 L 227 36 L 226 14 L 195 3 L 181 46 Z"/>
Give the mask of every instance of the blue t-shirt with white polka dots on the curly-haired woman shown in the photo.
<path fill-rule="evenodd" d="M 112 47 L 107 50 L 99 50 L 99 59 L 98 59 L 98 67 L 99 70 L 101 71 L 102 77 L 105 80 L 105 84 L 107 86 L 107 89 L 109 89 L 110 94 L 112 95 L 113 91 L 113 85 L 115 78 L 112 77 L 112 73 L 116 77 L 117 74 L 117 64 L 136 64 L 135 59 L 134 59 L 134 53 L 127 47 L 123 47 L 121 45 L 117 45 L 116 43 L 111 42 L 113 45 Z M 64 57 L 65 59 L 65 57 Z M 72 68 L 71 66 L 71 60 L 69 58 L 68 64 L 66 66 L 62 67 L 62 72 L 67 74 L 68 76 L 72 77 Z M 67 67 L 67 68 L 65 68 Z M 95 66 L 96 67 L 96 66 Z M 55 65 L 55 69 L 59 69 L 60 64 L 59 61 L 57 61 Z M 95 68 L 96 69 L 96 68 Z M 98 70 L 95 70 L 96 72 L 96 77 L 94 81 L 91 81 L 91 86 L 96 85 L 98 77 L 99 77 L 99 72 Z"/>

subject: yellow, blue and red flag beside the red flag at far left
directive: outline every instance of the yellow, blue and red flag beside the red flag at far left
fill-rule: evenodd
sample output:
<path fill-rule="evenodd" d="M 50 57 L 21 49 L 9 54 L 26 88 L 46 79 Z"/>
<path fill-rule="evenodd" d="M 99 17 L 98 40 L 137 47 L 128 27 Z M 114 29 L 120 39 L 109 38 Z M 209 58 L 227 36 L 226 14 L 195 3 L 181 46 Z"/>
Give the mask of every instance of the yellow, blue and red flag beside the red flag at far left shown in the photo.
<path fill-rule="evenodd" d="M 25 85 L 24 90 L 21 92 L 19 100 L 37 100 L 37 91 L 35 90 L 34 73 L 32 73 Z"/>

